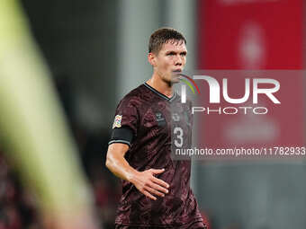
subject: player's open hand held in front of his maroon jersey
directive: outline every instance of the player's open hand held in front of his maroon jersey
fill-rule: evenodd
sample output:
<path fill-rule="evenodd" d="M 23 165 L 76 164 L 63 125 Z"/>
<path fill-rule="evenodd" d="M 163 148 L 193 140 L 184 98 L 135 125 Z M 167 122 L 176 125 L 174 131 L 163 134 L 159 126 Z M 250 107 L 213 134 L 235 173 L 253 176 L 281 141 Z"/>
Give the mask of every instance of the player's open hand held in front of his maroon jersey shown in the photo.
<path fill-rule="evenodd" d="M 132 182 L 142 194 L 148 198 L 157 200 L 155 196 L 165 197 L 169 188 L 169 185 L 165 181 L 157 179 L 154 176 L 162 172 L 165 172 L 165 169 L 149 169 L 144 172 L 136 172 L 130 182 Z"/>

